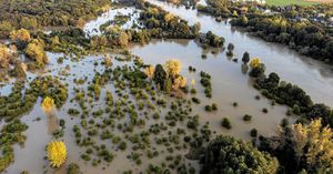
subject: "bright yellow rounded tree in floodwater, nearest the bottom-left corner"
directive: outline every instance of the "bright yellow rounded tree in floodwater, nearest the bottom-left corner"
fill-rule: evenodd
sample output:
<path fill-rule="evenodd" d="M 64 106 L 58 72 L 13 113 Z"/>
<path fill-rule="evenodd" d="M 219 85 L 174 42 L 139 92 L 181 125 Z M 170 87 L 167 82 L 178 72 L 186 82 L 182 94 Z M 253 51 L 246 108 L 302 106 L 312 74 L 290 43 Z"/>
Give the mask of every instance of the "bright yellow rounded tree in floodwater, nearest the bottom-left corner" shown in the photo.
<path fill-rule="evenodd" d="M 48 160 L 52 167 L 60 167 L 67 158 L 67 147 L 62 141 L 52 141 L 47 146 Z"/>

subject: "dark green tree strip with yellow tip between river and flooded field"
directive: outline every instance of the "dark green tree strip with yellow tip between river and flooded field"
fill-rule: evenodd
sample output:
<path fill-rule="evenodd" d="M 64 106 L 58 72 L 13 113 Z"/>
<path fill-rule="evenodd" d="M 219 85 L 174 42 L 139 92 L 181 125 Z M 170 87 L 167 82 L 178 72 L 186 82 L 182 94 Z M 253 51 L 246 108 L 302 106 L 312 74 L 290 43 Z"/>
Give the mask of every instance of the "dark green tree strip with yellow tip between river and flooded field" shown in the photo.
<path fill-rule="evenodd" d="M 325 105 L 313 103 L 304 90 L 297 85 L 281 81 L 280 76 L 272 72 L 266 76 L 265 65 L 259 59 L 250 62 L 250 75 L 254 78 L 254 88 L 268 99 L 291 108 L 287 114 L 301 115 L 299 122 L 309 123 L 314 119 L 321 119 L 324 125 L 333 127 L 333 110 Z"/>

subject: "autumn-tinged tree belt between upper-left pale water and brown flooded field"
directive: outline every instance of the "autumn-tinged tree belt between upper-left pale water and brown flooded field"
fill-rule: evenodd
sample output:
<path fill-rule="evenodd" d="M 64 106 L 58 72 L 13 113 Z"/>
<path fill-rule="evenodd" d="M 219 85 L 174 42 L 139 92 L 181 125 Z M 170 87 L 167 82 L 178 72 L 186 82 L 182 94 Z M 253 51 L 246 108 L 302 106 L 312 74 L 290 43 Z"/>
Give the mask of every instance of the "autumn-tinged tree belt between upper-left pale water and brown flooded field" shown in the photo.
<path fill-rule="evenodd" d="M 54 31 L 50 35 L 39 32 L 37 35 L 46 41 L 47 50 L 58 52 L 77 52 L 73 45 L 99 50 L 125 48 L 130 42 L 148 43 L 151 39 L 194 39 L 199 35 L 199 24 L 189 25 L 186 21 L 149 2 L 124 1 L 123 6 L 133 6 L 142 10 L 139 19 L 141 29 L 122 29 L 117 24 L 107 27 L 107 23 L 101 35 L 91 38 L 80 28 Z"/>

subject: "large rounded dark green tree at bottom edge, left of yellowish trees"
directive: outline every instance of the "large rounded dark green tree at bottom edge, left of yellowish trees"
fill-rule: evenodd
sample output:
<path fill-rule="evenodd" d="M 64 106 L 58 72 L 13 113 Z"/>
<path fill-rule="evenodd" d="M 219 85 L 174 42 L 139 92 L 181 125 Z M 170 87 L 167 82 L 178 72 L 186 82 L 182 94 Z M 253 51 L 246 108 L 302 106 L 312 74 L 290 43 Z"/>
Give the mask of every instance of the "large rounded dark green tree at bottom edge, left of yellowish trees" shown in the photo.
<path fill-rule="evenodd" d="M 202 174 L 258 173 L 274 174 L 279 162 L 250 143 L 220 135 L 204 149 L 200 161 Z"/>

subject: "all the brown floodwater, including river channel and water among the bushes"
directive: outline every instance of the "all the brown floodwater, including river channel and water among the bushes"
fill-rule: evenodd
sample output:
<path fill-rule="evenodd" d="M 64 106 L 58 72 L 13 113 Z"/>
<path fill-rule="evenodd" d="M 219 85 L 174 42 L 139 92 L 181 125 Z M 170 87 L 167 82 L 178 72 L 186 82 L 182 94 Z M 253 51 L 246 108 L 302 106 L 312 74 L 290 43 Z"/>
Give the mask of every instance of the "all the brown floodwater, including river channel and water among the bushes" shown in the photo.
<path fill-rule="evenodd" d="M 193 95 L 201 99 L 200 104 L 191 104 L 190 115 L 199 115 L 199 125 L 210 125 L 213 136 L 218 134 L 228 134 L 235 137 L 240 137 L 246 141 L 251 141 L 249 131 L 251 129 L 256 129 L 259 134 L 262 135 L 273 135 L 276 132 L 278 124 L 282 119 L 287 117 L 290 122 L 295 120 L 294 116 L 286 116 L 286 106 L 283 105 L 272 105 L 271 101 L 265 98 L 256 100 L 255 96 L 260 95 L 260 92 L 252 86 L 252 81 L 248 75 L 246 66 L 242 65 L 241 58 L 245 51 L 248 51 L 251 57 L 259 57 L 266 64 L 269 72 L 278 72 L 281 79 L 292 82 L 294 84 L 303 88 L 306 93 L 311 95 L 314 102 L 323 102 L 330 106 L 333 106 L 333 70 L 332 66 L 325 65 L 323 63 L 313 61 L 311 59 L 304 58 L 290 51 L 287 48 L 268 43 L 262 40 L 255 39 L 248 33 L 239 31 L 238 29 L 231 28 L 230 24 L 224 22 L 219 23 L 214 18 L 199 14 L 195 10 L 186 10 L 183 7 L 174 7 L 169 3 L 162 3 L 155 0 L 148 0 L 154 4 L 162 7 L 164 10 L 179 16 L 190 23 L 200 22 L 202 32 L 212 31 L 215 34 L 225 38 L 226 42 L 232 42 L 235 44 L 234 58 L 239 59 L 239 62 L 232 61 L 225 55 L 225 51 L 222 49 L 208 49 L 203 50 L 193 40 L 152 40 L 149 44 L 131 44 L 130 52 L 133 55 L 138 55 L 142 59 L 145 64 L 159 64 L 164 63 L 170 59 L 178 59 L 182 62 L 181 74 L 184 75 L 188 81 L 195 80 L 196 94 L 184 94 L 184 99 L 191 99 Z M 130 28 L 138 19 L 138 12 L 135 9 L 113 9 L 102 14 L 95 21 L 87 23 L 84 31 L 90 34 L 100 34 L 101 31 L 99 27 L 109 20 L 113 19 L 117 14 L 132 16 L 131 20 L 124 24 L 125 28 Z M 205 59 L 202 59 L 202 54 L 206 54 Z M 144 151 L 133 151 L 131 147 L 135 143 L 130 142 L 130 136 L 132 134 L 140 134 L 148 131 L 150 126 L 154 124 L 160 124 L 165 122 L 165 115 L 171 112 L 170 105 L 172 102 L 178 102 L 173 98 L 169 98 L 163 94 L 157 94 L 158 98 L 167 99 L 167 108 L 158 106 L 157 110 L 143 109 L 139 112 L 139 117 L 142 119 L 145 124 L 135 127 L 134 132 L 124 132 L 123 129 L 107 129 L 112 132 L 113 136 L 120 137 L 121 140 L 127 140 L 128 147 L 120 151 L 115 143 L 111 140 L 101 140 L 99 136 L 93 136 L 95 145 L 105 145 L 108 150 L 111 150 L 114 154 L 114 158 L 111 163 L 100 162 L 97 166 L 93 166 L 91 162 L 85 162 L 82 160 L 81 155 L 89 149 L 85 146 L 79 146 L 75 143 L 75 134 L 72 131 L 74 125 L 79 125 L 82 131 L 82 136 L 88 136 L 87 130 L 82 127 L 82 120 L 93 120 L 95 123 L 92 125 L 98 125 L 98 132 L 101 133 L 105 131 L 102 127 L 104 119 L 112 117 L 112 114 L 104 112 L 100 116 L 92 116 L 91 113 L 88 117 L 80 117 L 69 115 L 69 109 L 77 109 L 81 111 L 80 104 L 74 100 L 77 91 L 84 91 L 88 93 L 88 86 L 93 81 L 97 72 L 103 73 L 107 68 L 102 63 L 104 58 L 112 58 L 112 68 L 117 66 L 132 66 L 133 57 L 131 61 L 119 61 L 115 57 L 122 57 L 113 52 L 101 52 L 95 55 L 88 55 L 84 59 L 71 60 L 69 58 L 63 60 L 63 63 L 58 63 L 58 59 L 63 57 L 59 53 L 48 53 L 50 63 L 47 65 L 46 71 L 28 73 L 28 79 L 32 80 L 38 75 L 52 75 L 59 76 L 61 82 L 68 84 L 68 100 L 65 104 L 50 113 L 44 112 L 41 108 L 41 100 L 38 99 L 33 110 L 22 116 L 21 121 L 29 125 L 26 131 L 27 142 L 24 146 L 14 146 L 14 163 L 10 165 L 7 170 L 8 174 L 17 174 L 26 170 L 29 173 L 65 173 L 65 166 L 59 170 L 51 168 L 48 164 L 46 157 L 46 142 L 50 142 L 53 139 L 52 133 L 59 130 L 59 120 L 65 121 L 65 127 L 63 130 L 63 140 L 68 146 L 68 160 L 67 163 L 75 162 L 80 165 L 83 173 L 123 173 L 124 171 L 135 171 L 133 173 L 140 173 L 142 168 L 149 167 L 150 163 L 162 164 L 167 163 L 165 157 L 169 155 L 184 155 L 189 153 L 189 147 L 178 147 L 178 145 L 171 145 L 173 151 L 168 150 L 170 146 L 161 145 L 157 143 L 157 140 L 161 136 L 173 136 L 176 135 L 179 129 L 186 130 L 186 122 L 178 122 L 175 126 L 168 126 L 168 131 L 161 131 L 160 134 L 150 134 L 149 139 L 151 143 L 147 145 Z M 196 72 L 190 72 L 189 66 L 196 69 Z M 212 83 L 212 98 L 208 99 L 204 95 L 204 89 L 200 84 L 200 72 L 204 71 L 211 75 Z M 78 79 L 84 79 L 82 84 L 77 84 L 73 81 Z M 129 94 L 130 90 L 127 89 L 122 92 L 117 92 L 119 89 L 114 81 L 108 81 L 101 86 L 100 100 L 89 99 L 87 104 L 91 111 L 104 110 L 107 108 L 105 98 L 107 91 L 114 94 L 114 101 L 123 102 L 123 105 L 137 105 L 140 100 L 135 100 L 133 96 L 123 99 L 117 93 L 122 95 Z M 4 84 L 0 86 L 0 94 L 8 95 L 11 90 L 11 84 Z M 147 92 L 148 93 L 148 92 Z M 148 100 L 149 101 L 149 100 Z M 147 102 L 147 101 L 145 101 Z M 206 112 L 204 111 L 204 105 L 215 103 L 218 105 L 218 111 Z M 235 106 L 234 103 L 238 103 Z M 186 104 L 184 104 L 186 108 Z M 262 110 L 266 108 L 268 113 L 263 113 Z M 151 115 L 158 112 L 161 115 L 160 120 L 154 120 Z M 251 122 L 244 122 L 242 117 L 245 114 L 252 115 Z M 232 123 L 232 130 L 226 130 L 221 126 L 222 117 L 229 117 Z M 114 117 L 113 117 L 114 119 Z M 122 119 L 114 119 L 117 123 L 123 123 L 130 121 L 130 115 Z M 115 125 L 117 125 L 115 123 Z M 127 125 L 127 124 L 124 124 Z M 89 130 L 89 129 L 88 129 Z M 192 135 L 190 132 L 186 135 Z M 180 135 L 179 140 L 183 140 L 185 135 Z M 93 145 L 92 145 L 93 146 Z M 181 146 L 181 145 L 180 145 Z M 155 151 L 159 153 L 158 156 L 149 158 L 144 153 L 147 151 Z M 131 156 L 133 153 L 139 153 L 141 156 L 141 163 L 138 164 L 133 161 Z M 198 164 L 195 161 L 190 161 L 182 158 L 181 163 L 190 164 L 198 171 Z M 172 171 L 171 173 L 174 173 Z"/>

